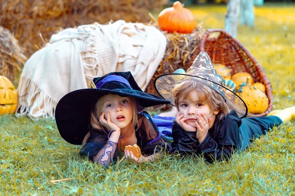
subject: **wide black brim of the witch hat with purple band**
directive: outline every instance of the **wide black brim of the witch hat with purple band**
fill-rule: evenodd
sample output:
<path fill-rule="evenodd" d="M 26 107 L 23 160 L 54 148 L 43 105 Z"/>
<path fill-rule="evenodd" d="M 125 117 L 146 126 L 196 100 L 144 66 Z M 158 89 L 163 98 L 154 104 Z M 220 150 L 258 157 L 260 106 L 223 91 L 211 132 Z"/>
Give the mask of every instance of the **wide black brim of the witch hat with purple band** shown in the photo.
<path fill-rule="evenodd" d="M 133 79 L 132 76 L 128 81 L 131 80 L 130 82 L 132 84 Z M 165 100 L 159 96 L 142 92 L 134 84 L 131 86 L 137 90 L 116 88 L 116 86 L 120 86 L 121 84 L 116 85 L 116 82 L 109 83 L 112 83 L 109 86 L 110 89 L 80 89 L 66 94 L 59 100 L 56 107 L 55 119 L 59 133 L 65 141 L 75 145 L 82 144 L 85 135 L 89 132 L 89 128 L 91 128 L 91 110 L 97 100 L 105 95 L 113 94 L 121 97 L 136 98 L 142 108 L 170 103 L 169 100 Z"/>

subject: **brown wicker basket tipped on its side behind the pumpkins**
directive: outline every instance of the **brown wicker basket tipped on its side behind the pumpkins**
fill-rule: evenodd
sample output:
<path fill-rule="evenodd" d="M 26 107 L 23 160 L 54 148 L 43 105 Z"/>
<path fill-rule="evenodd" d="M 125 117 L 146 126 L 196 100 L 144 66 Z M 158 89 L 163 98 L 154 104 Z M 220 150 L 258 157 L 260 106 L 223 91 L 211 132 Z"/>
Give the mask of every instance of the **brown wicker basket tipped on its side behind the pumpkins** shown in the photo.
<path fill-rule="evenodd" d="M 219 35 L 212 37 L 211 33 L 219 33 Z M 247 72 L 252 75 L 254 82 L 261 82 L 266 86 L 266 96 L 269 100 L 266 111 L 262 114 L 249 113 L 247 117 L 266 116 L 271 111 L 273 96 L 270 81 L 254 56 L 239 41 L 223 29 L 208 29 L 193 53 L 191 63 L 201 51 L 206 51 L 213 63 L 224 64 L 231 68 L 232 75 Z"/>

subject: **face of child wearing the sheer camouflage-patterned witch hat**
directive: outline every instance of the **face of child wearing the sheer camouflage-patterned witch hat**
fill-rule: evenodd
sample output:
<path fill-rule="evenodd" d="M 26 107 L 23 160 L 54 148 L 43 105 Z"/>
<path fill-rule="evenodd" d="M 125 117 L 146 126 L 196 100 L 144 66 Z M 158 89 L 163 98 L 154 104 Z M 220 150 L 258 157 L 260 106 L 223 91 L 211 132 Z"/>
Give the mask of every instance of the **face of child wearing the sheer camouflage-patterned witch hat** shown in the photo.
<path fill-rule="evenodd" d="M 181 96 L 179 98 L 178 109 L 180 115 L 183 114 L 183 118 L 187 119 L 186 123 L 196 128 L 195 122 L 197 122 L 198 114 L 205 114 L 207 119 L 212 118 L 209 123 L 209 127 L 211 128 L 219 111 L 212 111 L 207 103 L 200 101 L 198 93 L 195 90 L 189 93 L 187 99 L 183 97 Z"/>

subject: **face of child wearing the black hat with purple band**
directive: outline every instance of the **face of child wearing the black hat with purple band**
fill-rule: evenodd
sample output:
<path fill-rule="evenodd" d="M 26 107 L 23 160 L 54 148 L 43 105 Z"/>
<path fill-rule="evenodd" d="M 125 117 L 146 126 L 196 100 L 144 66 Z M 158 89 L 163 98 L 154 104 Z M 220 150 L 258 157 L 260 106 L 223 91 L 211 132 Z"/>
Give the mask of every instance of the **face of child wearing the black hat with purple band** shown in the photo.
<path fill-rule="evenodd" d="M 107 112 L 109 112 L 111 122 L 121 129 L 132 123 L 133 103 L 131 98 L 109 94 L 101 99 L 103 103 L 101 112 L 105 113 L 106 120 L 108 120 Z"/>

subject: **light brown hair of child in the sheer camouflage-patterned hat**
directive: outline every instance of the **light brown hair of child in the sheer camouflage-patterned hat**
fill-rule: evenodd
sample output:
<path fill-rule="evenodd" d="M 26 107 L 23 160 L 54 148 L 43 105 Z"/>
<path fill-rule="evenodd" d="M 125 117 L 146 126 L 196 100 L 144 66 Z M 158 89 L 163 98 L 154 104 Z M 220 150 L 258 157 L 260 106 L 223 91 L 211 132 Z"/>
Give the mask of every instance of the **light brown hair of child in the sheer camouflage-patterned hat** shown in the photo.
<path fill-rule="evenodd" d="M 211 111 L 219 110 L 219 119 L 222 119 L 230 113 L 229 106 L 225 103 L 224 98 L 219 95 L 219 93 L 194 79 L 185 80 L 174 87 L 173 97 L 178 111 L 179 99 L 181 97 L 187 99 L 192 90 L 197 91 L 200 101 L 207 103 Z"/>

